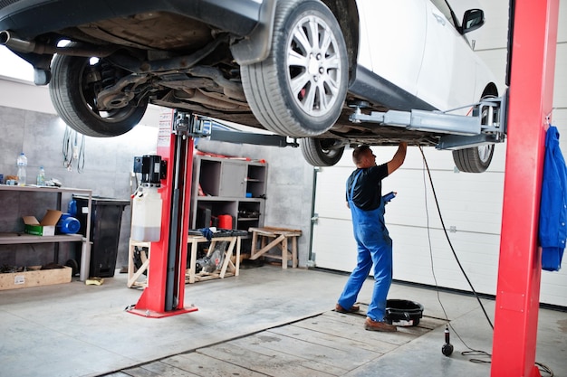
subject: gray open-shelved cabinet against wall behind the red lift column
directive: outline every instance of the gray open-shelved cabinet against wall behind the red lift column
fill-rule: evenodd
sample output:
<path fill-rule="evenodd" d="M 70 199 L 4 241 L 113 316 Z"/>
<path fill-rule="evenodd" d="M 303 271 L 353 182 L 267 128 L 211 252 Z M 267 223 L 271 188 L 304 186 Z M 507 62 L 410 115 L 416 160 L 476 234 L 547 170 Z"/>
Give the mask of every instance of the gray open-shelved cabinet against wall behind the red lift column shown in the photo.
<path fill-rule="evenodd" d="M 267 164 L 199 155 L 193 164 L 190 228 L 207 228 L 221 215 L 232 216 L 232 229 L 264 225 Z"/>

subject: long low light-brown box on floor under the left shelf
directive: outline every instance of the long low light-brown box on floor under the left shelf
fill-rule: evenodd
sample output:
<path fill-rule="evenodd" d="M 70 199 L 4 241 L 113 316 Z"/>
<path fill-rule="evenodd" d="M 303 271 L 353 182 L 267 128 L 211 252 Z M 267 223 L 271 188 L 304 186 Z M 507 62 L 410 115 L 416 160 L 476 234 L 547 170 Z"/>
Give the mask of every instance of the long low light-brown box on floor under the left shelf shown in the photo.
<path fill-rule="evenodd" d="M 42 266 L 29 267 L 25 272 L 0 273 L 0 290 L 25 287 L 49 286 L 70 283 L 72 268 L 41 269 Z"/>

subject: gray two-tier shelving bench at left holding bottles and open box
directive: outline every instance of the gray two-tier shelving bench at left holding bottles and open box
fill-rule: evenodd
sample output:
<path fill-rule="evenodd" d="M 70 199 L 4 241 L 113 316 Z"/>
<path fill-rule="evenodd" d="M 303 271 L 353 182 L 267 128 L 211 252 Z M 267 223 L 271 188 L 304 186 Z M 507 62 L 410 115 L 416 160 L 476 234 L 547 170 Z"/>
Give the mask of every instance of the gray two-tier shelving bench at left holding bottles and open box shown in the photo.
<path fill-rule="evenodd" d="M 89 198 L 88 200 L 88 213 L 87 213 L 87 223 L 91 223 L 91 197 L 92 191 L 86 189 L 74 189 L 66 187 L 36 187 L 36 186 L 10 186 L 10 185 L 0 185 L 0 195 L 5 196 L 7 193 L 29 193 L 30 200 L 33 200 L 34 193 L 53 193 L 56 194 L 56 209 L 62 209 L 62 193 L 79 193 L 85 195 Z M 27 197 L 25 199 L 28 199 Z M 24 200 L 25 200 L 24 199 Z M 41 206 L 42 203 L 37 203 Z M 47 208 L 45 208 L 47 210 Z M 28 215 L 30 213 L 14 213 L 14 223 L 17 222 L 23 215 Z M 90 227 L 89 227 L 90 229 Z M 53 261 L 58 262 L 59 259 L 59 248 L 58 244 L 60 242 L 82 242 L 81 248 L 81 273 L 80 279 L 82 281 L 89 278 L 89 264 L 91 247 L 90 243 L 87 241 L 90 238 L 90 231 L 87 232 L 86 237 L 82 234 L 56 234 L 54 236 L 34 236 L 31 234 L 25 234 L 19 231 L 5 231 L 0 232 L 0 245 L 14 245 L 14 244 L 34 244 L 34 243 L 55 243 L 53 251 Z"/>

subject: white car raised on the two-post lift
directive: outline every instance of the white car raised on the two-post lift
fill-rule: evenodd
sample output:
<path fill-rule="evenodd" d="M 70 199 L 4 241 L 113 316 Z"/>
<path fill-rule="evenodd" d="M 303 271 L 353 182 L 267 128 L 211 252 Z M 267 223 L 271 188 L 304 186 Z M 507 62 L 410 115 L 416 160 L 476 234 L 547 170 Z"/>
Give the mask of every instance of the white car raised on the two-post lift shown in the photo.
<path fill-rule="evenodd" d="M 497 97 L 445 0 L 14 0 L 0 5 L 0 43 L 51 82 L 53 105 L 85 135 L 128 132 L 149 103 L 301 137 L 312 165 L 345 146 L 441 134 L 370 122 L 361 111 L 448 110 Z M 71 41 L 62 46 L 61 41 Z M 91 59 L 96 57 L 98 59 Z M 494 145 L 453 152 L 482 172 Z"/>

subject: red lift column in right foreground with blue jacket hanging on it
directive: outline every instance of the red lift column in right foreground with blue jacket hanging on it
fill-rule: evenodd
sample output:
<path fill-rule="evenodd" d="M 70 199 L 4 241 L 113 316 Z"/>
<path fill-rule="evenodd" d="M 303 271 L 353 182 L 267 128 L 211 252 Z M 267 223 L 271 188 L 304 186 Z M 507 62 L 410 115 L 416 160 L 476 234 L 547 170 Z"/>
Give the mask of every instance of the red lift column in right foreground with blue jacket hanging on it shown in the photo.
<path fill-rule="evenodd" d="M 537 231 L 558 13 L 559 0 L 515 1 L 493 377 L 541 375 L 534 364 L 542 272 Z"/>

